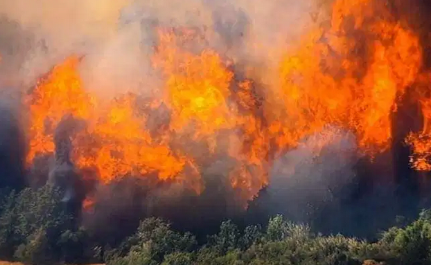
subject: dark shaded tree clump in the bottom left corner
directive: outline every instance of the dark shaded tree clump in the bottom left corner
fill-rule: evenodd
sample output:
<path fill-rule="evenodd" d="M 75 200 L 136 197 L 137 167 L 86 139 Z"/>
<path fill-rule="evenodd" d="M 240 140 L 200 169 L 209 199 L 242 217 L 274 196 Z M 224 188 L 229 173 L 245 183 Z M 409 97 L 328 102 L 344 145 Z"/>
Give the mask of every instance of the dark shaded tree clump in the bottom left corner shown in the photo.
<path fill-rule="evenodd" d="M 46 186 L 10 192 L 0 215 L 0 254 L 30 264 L 76 262 L 84 257 L 85 231 L 75 228 L 62 194 Z"/>

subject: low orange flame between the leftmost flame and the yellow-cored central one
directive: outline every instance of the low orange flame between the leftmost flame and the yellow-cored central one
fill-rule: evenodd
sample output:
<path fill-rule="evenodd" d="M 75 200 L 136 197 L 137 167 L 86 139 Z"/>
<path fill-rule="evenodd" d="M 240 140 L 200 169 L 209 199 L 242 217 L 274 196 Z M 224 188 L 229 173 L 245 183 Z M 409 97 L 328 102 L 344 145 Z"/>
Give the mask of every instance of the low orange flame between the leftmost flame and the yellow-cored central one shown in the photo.
<path fill-rule="evenodd" d="M 186 163 L 164 143 L 155 143 L 143 129 L 145 117 L 134 113 L 134 98 L 116 100 L 98 113 L 94 125 L 76 138 L 74 157 L 79 167 L 95 167 L 100 179 L 109 183 L 127 174 L 158 172 L 162 180 L 172 179 Z M 96 147 L 96 148 L 95 148 Z"/>

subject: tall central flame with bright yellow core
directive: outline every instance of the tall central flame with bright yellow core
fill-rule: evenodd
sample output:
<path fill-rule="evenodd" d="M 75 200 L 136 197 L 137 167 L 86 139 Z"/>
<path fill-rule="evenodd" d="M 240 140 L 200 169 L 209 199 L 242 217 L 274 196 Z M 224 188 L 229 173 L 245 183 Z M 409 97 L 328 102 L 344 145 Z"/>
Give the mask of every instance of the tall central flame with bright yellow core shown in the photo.
<path fill-rule="evenodd" d="M 261 122 L 252 113 L 240 113 L 240 108 L 254 111 L 256 107 L 252 82 L 235 84 L 234 73 L 227 68 L 229 62 L 211 49 L 196 54 L 183 48 L 197 37 L 195 30 L 159 30 L 160 43 L 153 61 L 166 76 L 165 102 L 172 110 L 170 129 L 179 135 L 191 135 L 193 140 L 206 140 L 211 154 L 218 145 L 217 133 L 238 129 L 240 133 L 231 140 L 241 147 L 234 152 L 228 150 L 237 161 L 229 179 L 246 200 L 252 199 L 267 184 L 263 162 L 267 143 Z"/>

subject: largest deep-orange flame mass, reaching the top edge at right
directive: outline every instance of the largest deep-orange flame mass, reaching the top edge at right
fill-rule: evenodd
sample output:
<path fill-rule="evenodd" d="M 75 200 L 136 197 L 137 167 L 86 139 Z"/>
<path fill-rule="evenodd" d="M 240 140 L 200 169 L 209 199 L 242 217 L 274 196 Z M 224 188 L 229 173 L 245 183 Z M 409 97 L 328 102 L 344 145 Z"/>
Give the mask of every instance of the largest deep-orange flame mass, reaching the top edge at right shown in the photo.
<path fill-rule="evenodd" d="M 389 147 L 391 113 L 421 66 L 419 40 L 399 24 L 373 21 L 380 10 L 387 13 L 374 1 L 354 2 L 336 1 L 331 28 L 310 34 L 281 62 L 288 119 L 277 117 L 271 127 L 282 135 L 279 145 L 297 145 L 325 125 L 337 125 L 354 131 L 367 154 Z M 346 19 L 353 19 L 353 28 L 344 28 Z M 352 30 L 369 39 L 368 46 L 358 47 Z"/>

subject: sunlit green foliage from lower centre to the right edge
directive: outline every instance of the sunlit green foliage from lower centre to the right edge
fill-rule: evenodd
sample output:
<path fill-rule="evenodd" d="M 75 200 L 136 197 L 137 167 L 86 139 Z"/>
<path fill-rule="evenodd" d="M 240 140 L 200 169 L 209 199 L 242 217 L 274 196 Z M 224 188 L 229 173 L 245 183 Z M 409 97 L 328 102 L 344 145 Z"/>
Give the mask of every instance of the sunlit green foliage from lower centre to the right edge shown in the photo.
<path fill-rule="evenodd" d="M 157 244 L 158 255 L 154 255 L 147 237 L 146 244 L 139 241 L 141 247 L 129 248 L 127 255 L 116 257 L 110 264 L 431 264 L 430 217 L 431 212 L 425 211 L 409 226 L 391 228 L 374 243 L 342 235 L 314 235 L 308 226 L 285 221 L 281 215 L 270 219 L 265 230 L 247 226 L 240 231 L 234 223 L 225 221 L 220 231 L 199 249 L 179 250 L 181 247 L 177 247 L 177 251 L 173 251 L 173 244 Z M 150 223 L 155 222 L 151 220 Z M 165 233 L 167 240 L 169 235 L 175 234 L 162 221 L 158 221 L 157 226 L 163 229 L 155 230 Z M 158 234 L 157 238 L 164 237 Z M 168 248 L 164 248 L 166 246 Z"/>

